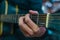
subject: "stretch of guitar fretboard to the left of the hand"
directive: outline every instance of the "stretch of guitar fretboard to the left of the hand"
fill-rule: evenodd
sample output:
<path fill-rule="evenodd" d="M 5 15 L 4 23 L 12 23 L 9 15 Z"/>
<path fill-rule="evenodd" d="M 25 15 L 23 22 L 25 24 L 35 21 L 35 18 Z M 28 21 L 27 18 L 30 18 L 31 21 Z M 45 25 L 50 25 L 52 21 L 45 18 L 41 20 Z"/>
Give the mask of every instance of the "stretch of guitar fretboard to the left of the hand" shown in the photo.
<path fill-rule="evenodd" d="M 0 21 L 8 22 L 8 23 L 18 23 L 18 18 L 21 16 L 23 16 L 23 15 L 14 15 L 14 14 L 1 15 Z"/>

